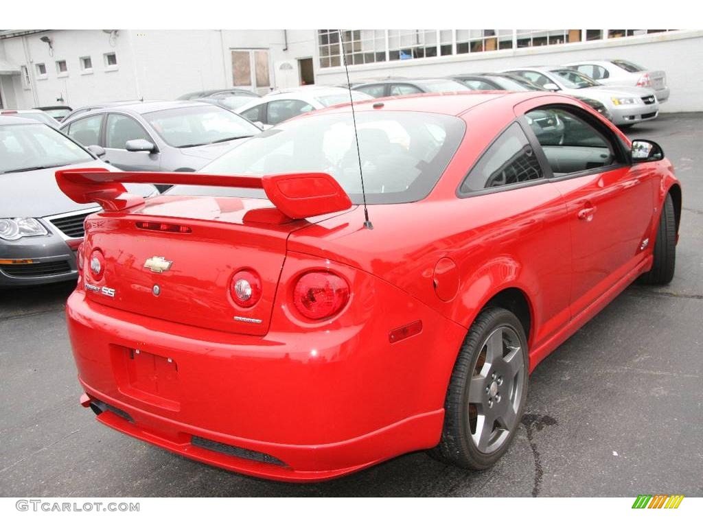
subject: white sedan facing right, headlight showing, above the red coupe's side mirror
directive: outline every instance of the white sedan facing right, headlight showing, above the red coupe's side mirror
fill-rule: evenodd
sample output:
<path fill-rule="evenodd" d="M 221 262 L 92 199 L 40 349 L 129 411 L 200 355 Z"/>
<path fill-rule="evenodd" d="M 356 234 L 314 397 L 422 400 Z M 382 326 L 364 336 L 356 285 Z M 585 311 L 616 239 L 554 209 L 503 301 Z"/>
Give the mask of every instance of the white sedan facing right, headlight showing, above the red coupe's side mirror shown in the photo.
<path fill-rule="evenodd" d="M 550 91 L 598 100 L 618 126 L 631 126 L 659 115 L 657 96 L 651 89 L 603 86 L 569 67 L 524 67 L 507 71 Z"/>

